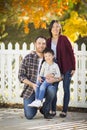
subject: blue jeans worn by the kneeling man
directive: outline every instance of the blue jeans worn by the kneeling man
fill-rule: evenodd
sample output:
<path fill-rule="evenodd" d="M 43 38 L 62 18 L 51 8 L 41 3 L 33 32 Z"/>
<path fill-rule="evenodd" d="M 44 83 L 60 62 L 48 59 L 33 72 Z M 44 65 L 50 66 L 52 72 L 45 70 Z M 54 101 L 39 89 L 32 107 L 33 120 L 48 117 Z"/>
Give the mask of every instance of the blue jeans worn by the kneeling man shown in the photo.
<path fill-rule="evenodd" d="M 55 95 L 56 95 L 56 88 L 53 85 L 48 86 L 45 94 L 45 102 L 43 104 L 44 114 L 49 113 L 50 106 L 53 99 L 55 98 Z M 37 113 L 37 108 L 28 106 L 28 104 L 32 103 L 34 100 L 35 100 L 34 92 L 29 98 L 24 98 L 24 114 L 27 119 L 32 119 Z"/>

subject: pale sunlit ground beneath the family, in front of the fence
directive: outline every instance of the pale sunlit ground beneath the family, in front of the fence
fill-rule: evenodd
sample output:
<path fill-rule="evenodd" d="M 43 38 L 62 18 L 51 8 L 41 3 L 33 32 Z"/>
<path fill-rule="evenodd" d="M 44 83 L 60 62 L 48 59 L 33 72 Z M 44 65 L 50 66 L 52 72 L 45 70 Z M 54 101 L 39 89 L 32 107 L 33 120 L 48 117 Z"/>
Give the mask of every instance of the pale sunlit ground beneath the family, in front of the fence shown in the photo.
<path fill-rule="evenodd" d="M 68 112 L 66 118 L 60 118 L 59 113 L 44 119 L 38 111 L 34 119 L 27 120 L 23 109 L 1 108 L 0 130 L 87 130 L 87 113 Z"/>

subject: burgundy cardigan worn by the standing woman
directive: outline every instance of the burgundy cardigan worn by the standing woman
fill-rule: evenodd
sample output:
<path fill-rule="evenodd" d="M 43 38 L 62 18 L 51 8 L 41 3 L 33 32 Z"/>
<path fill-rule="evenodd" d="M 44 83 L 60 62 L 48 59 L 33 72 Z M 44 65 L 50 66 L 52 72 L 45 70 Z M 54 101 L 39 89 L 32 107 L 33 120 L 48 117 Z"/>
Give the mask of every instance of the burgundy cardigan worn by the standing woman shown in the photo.
<path fill-rule="evenodd" d="M 47 40 L 47 47 L 51 48 L 51 38 Z M 75 70 L 75 57 L 72 45 L 66 36 L 59 36 L 56 52 L 57 62 L 62 74 L 69 70 Z"/>

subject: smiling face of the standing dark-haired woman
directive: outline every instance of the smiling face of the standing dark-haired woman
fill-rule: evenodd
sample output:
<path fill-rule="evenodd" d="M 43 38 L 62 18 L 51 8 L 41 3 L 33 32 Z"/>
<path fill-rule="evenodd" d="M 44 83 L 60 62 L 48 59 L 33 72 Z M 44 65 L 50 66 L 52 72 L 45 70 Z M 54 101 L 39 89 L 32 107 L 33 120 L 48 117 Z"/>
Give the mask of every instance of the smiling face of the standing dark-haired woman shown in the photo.
<path fill-rule="evenodd" d="M 51 29 L 52 36 L 58 36 L 60 33 L 60 29 L 61 29 L 61 25 L 55 22 Z"/>

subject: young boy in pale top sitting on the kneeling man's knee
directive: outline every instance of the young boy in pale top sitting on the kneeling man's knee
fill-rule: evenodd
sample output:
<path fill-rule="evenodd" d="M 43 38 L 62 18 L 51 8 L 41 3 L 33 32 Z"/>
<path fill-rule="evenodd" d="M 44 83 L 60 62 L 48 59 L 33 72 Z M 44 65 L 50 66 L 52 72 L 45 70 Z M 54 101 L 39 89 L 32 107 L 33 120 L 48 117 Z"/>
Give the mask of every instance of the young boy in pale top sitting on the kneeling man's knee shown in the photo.
<path fill-rule="evenodd" d="M 61 80 L 60 70 L 58 65 L 54 62 L 54 51 L 52 49 L 45 49 L 44 51 L 44 63 L 42 64 L 39 78 L 37 81 L 37 88 L 35 93 L 35 101 L 28 106 L 41 107 L 45 96 L 46 88 L 51 85 L 49 78 L 55 77 L 58 82 Z M 57 87 L 58 84 L 55 82 L 52 84 L 53 87 Z"/>

